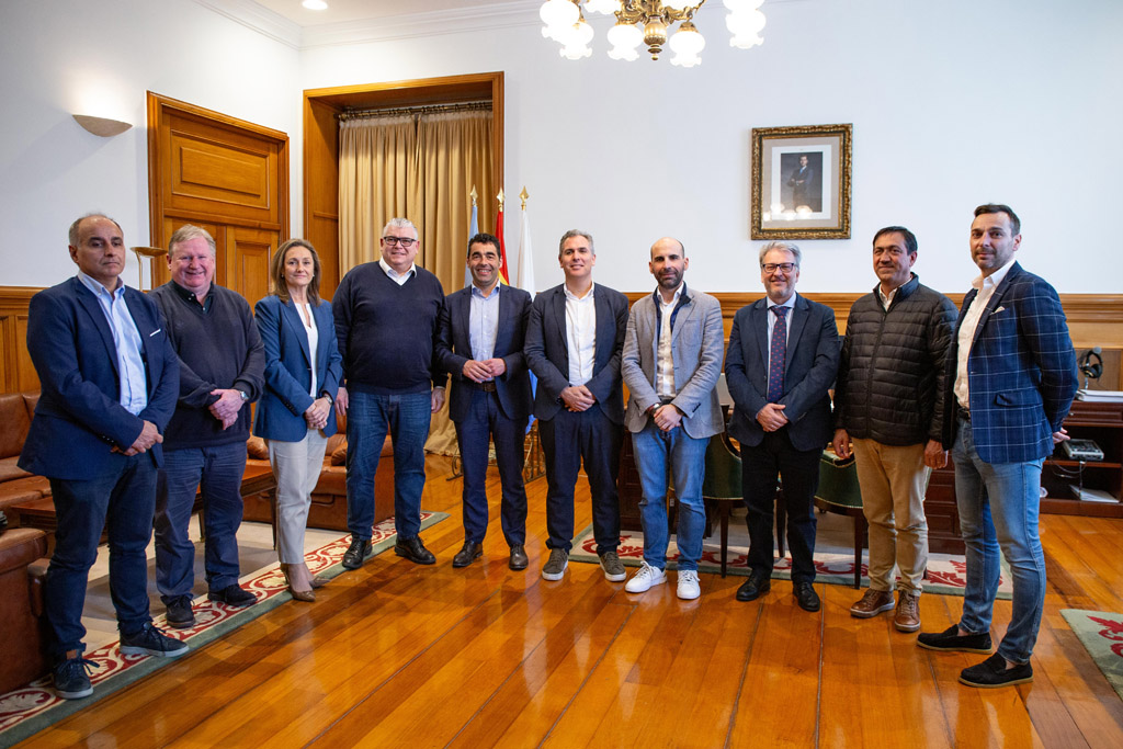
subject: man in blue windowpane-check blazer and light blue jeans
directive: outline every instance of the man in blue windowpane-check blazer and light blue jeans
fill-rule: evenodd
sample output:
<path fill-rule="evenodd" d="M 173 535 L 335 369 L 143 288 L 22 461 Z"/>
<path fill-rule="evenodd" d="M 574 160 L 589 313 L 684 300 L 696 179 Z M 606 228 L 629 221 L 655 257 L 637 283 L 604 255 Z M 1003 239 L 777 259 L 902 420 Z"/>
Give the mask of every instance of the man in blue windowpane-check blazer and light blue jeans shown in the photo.
<path fill-rule="evenodd" d="M 1021 243 L 1021 221 L 1008 205 L 975 209 L 971 259 L 982 275 L 964 298 L 948 350 L 943 420 L 943 446 L 956 463 L 967 588 L 959 622 L 916 639 L 932 650 L 990 652 L 1001 548 L 1014 582 L 1010 627 L 993 656 L 959 676 L 980 687 L 1033 678 L 1030 655 L 1046 597 L 1041 465 L 1068 439 L 1061 423 L 1077 387 L 1060 299 L 1014 261 Z"/>

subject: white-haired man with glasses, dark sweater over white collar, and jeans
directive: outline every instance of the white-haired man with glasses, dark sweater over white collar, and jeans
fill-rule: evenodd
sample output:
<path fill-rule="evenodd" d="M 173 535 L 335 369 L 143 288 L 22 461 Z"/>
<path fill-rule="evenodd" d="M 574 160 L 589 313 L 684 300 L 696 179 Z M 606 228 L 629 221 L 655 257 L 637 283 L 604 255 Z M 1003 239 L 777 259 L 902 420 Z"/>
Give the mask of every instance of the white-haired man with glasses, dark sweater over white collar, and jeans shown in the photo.
<path fill-rule="evenodd" d="M 419 565 L 437 561 L 419 533 L 429 418 L 445 403 L 445 373 L 433 356 L 445 290 L 413 264 L 421 243 L 409 219 L 390 219 L 378 245 L 382 259 L 348 271 L 331 303 L 344 357 L 336 409 L 347 414 L 347 569 L 358 569 L 371 555 L 374 474 L 387 431 L 394 445 L 394 552 Z"/>

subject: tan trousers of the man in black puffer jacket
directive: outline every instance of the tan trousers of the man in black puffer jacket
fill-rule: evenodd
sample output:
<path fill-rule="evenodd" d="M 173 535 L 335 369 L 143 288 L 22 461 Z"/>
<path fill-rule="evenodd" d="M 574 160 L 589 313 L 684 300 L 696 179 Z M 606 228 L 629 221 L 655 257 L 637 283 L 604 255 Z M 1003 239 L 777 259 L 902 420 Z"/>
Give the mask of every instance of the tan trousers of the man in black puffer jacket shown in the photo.
<path fill-rule="evenodd" d="M 901 586 L 921 592 L 928 567 L 924 492 L 931 469 L 924 445 L 896 447 L 855 439 L 861 506 L 869 522 L 869 587 L 892 591 L 894 564 Z"/>

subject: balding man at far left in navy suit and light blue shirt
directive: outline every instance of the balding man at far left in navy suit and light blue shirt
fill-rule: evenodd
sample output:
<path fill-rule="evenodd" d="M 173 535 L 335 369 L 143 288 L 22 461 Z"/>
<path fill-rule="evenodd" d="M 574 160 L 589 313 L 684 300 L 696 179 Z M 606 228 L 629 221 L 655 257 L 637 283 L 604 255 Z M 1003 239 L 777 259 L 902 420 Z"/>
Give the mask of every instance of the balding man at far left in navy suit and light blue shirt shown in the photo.
<path fill-rule="evenodd" d="M 58 529 L 43 603 L 55 689 L 69 700 L 93 693 L 82 605 L 102 528 L 121 652 L 188 651 L 152 624 L 145 558 L 180 365 L 159 310 L 118 277 L 125 253 L 116 221 L 80 218 L 70 229 L 77 275 L 33 296 L 28 313 L 42 393 L 19 466 L 51 479 Z"/>

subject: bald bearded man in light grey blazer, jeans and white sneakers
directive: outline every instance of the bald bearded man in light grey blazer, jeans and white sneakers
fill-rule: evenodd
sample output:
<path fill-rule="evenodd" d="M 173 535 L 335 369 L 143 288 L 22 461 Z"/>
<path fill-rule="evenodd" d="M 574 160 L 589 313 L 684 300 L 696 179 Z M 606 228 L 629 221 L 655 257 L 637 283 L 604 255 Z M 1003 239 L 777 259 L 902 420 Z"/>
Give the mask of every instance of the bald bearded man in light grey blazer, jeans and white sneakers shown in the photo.
<path fill-rule="evenodd" d="M 696 599 L 705 532 L 702 479 L 710 437 L 722 431 L 718 403 L 723 328 L 721 304 L 683 283 L 690 262 L 677 239 L 651 245 L 648 267 L 658 284 L 631 308 L 620 373 L 630 396 L 624 426 L 632 435 L 643 499 L 643 564 L 624 590 L 665 583 L 668 466 L 678 504 L 678 597 Z"/>

